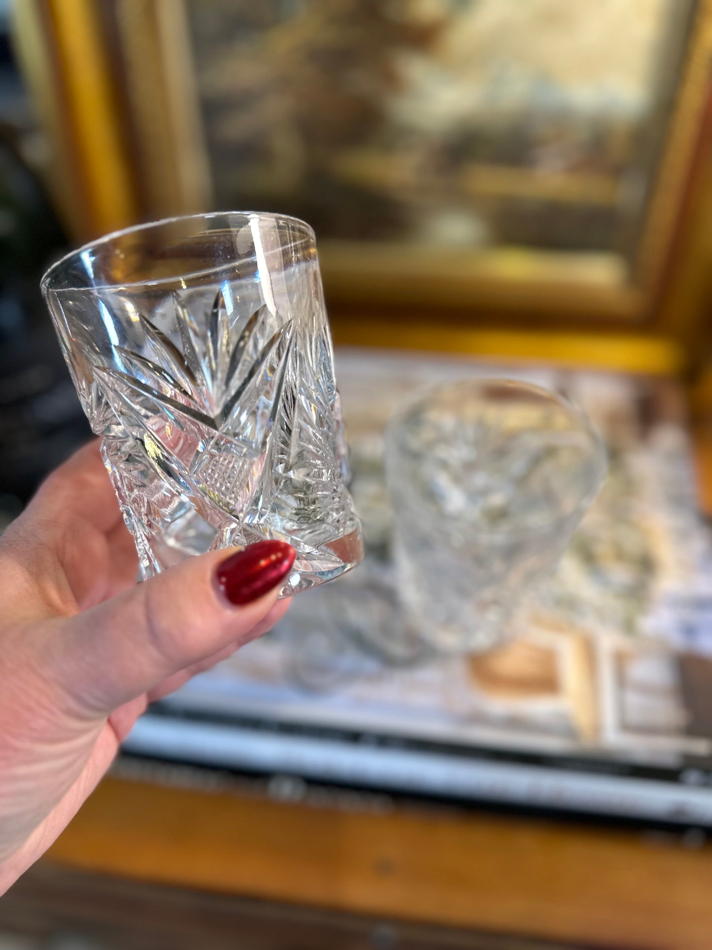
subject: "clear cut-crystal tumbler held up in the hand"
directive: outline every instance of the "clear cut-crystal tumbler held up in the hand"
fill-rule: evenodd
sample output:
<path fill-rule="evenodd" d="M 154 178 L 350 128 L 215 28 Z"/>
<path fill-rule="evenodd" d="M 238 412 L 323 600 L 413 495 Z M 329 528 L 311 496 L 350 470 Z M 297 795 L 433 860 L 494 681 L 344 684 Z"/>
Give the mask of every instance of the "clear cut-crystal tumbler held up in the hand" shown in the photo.
<path fill-rule="evenodd" d="M 234 213 L 108 235 L 43 278 L 144 578 L 263 538 L 282 593 L 363 557 L 314 235 Z"/>

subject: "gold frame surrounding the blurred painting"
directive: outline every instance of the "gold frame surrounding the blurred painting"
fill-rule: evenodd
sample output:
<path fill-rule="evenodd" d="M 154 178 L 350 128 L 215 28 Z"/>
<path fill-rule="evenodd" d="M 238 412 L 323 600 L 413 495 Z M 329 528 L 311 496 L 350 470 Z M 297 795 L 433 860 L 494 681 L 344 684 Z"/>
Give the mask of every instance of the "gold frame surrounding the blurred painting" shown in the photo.
<path fill-rule="evenodd" d="M 210 174 L 184 0 L 23 0 L 15 10 L 18 48 L 58 159 L 55 193 L 76 236 L 207 208 Z M 504 347 L 526 356 L 535 340 L 536 352 L 543 343 L 563 354 L 571 352 L 571 334 L 581 341 L 581 333 L 595 333 L 600 341 L 597 334 L 607 331 L 609 361 L 617 362 L 628 352 L 624 341 L 645 333 L 646 356 L 624 363 L 658 371 L 688 364 L 712 253 L 705 237 L 712 136 L 704 122 L 711 65 L 712 0 L 697 0 L 630 275 L 608 254 L 503 250 L 474 257 L 399 247 L 384 254 L 382 247 L 323 241 L 337 337 L 403 339 L 407 319 L 409 339 L 424 334 L 438 345 L 446 315 L 458 348 Z M 606 361 L 605 353 L 599 357 Z"/>

